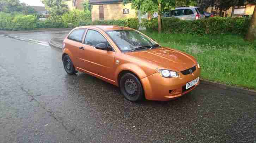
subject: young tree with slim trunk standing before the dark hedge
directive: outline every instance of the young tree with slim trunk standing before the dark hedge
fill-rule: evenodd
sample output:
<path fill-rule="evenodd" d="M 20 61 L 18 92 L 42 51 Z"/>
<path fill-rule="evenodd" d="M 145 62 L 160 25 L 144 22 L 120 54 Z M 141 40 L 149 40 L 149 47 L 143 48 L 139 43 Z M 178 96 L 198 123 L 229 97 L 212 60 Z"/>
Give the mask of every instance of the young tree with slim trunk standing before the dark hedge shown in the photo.
<path fill-rule="evenodd" d="M 165 8 L 175 6 L 175 0 L 124 0 L 123 4 L 131 3 L 132 8 L 142 14 L 158 12 L 158 32 L 161 33 L 161 13 Z"/>

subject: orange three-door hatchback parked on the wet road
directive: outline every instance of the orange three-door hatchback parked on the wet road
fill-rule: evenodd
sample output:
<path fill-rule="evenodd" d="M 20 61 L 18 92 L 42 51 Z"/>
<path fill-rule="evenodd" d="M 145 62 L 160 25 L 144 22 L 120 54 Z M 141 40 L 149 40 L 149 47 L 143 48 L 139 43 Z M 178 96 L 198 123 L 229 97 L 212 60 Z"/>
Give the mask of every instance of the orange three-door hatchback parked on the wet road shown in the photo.
<path fill-rule="evenodd" d="M 172 100 L 199 85 L 200 66 L 193 56 L 127 27 L 74 28 L 62 52 L 68 74 L 80 71 L 114 84 L 133 102 Z"/>

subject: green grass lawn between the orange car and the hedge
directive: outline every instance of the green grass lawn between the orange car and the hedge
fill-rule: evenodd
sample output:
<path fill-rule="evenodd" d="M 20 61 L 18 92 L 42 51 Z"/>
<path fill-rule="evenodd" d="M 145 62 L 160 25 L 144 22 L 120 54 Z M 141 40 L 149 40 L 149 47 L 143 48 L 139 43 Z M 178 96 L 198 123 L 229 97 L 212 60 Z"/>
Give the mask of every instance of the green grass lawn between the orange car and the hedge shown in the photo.
<path fill-rule="evenodd" d="M 143 33 L 162 46 L 193 55 L 200 63 L 202 79 L 256 90 L 256 42 L 237 35 Z"/>

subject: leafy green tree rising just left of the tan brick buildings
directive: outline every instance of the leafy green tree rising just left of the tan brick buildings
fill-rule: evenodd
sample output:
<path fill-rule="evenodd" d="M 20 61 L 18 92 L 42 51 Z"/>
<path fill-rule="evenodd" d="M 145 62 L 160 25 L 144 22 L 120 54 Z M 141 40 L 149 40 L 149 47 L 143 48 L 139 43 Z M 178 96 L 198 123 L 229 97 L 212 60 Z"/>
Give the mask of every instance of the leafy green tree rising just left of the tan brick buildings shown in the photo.
<path fill-rule="evenodd" d="M 68 11 L 65 0 L 41 0 L 45 8 L 50 12 L 50 16 L 62 15 Z"/>

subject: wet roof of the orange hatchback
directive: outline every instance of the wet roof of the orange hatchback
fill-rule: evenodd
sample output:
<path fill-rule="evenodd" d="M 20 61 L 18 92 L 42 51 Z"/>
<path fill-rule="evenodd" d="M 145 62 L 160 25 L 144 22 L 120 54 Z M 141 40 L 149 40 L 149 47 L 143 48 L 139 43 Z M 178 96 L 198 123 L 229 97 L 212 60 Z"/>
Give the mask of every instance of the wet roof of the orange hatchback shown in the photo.
<path fill-rule="evenodd" d="M 82 28 L 93 28 L 103 31 L 109 30 L 132 30 L 132 28 L 123 27 L 123 26 L 116 26 L 116 25 L 89 25 L 89 26 L 80 26 L 75 29 L 82 29 Z"/>

